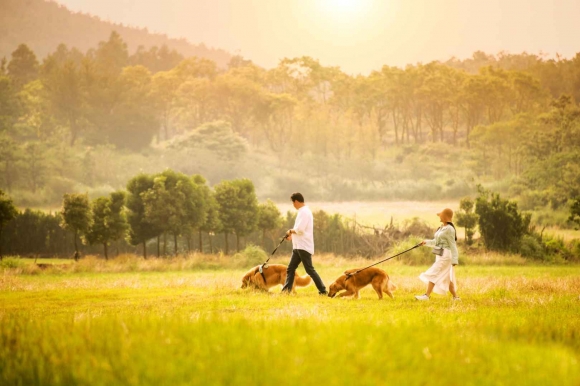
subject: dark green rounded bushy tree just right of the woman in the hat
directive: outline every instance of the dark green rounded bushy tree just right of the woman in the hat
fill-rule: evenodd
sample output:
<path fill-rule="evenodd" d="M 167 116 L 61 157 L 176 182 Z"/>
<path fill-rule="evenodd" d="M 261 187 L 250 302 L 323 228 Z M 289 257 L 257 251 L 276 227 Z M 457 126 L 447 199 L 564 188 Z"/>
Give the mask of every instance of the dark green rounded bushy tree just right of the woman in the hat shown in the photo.
<path fill-rule="evenodd" d="M 479 231 L 488 249 L 517 251 L 522 236 L 527 233 L 530 216 L 520 213 L 518 204 L 503 200 L 499 194 L 478 187 L 475 213 L 479 216 Z"/>

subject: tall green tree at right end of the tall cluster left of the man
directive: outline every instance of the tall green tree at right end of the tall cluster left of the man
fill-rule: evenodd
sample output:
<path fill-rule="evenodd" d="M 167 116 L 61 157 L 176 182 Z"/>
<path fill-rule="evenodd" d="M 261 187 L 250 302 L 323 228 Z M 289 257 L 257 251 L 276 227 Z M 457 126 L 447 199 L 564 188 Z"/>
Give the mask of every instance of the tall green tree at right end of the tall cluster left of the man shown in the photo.
<path fill-rule="evenodd" d="M 229 252 L 228 233 L 236 234 L 236 249 L 240 251 L 240 237 L 252 233 L 258 222 L 258 199 L 254 184 L 248 179 L 223 181 L 215 186 L 222 231 Z"/>

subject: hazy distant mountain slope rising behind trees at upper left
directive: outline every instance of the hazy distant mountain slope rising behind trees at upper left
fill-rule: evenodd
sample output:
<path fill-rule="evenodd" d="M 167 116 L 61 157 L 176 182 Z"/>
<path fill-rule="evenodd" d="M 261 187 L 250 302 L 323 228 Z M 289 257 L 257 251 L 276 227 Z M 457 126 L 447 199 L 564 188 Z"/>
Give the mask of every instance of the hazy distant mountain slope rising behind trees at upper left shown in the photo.
<path fill-rule="evenodd" d="M 167 35 L 150 33 L 146 28 L 127 27 L 103 21 L 96 16 L 75 13 L 53 1 L 0 0 L 0 58 L 10 60 L 10 54 L 24 43 L 42 60 L 60 43 L 82 52 L 95 48 L 117 31 L 127 43 L 129 53 L 137 47 L 167 45 L 185 57 L 198 56 L 226 67 L 231 55 L 221 49 L 194 45 L 185 39 L 171 39 Z"/>

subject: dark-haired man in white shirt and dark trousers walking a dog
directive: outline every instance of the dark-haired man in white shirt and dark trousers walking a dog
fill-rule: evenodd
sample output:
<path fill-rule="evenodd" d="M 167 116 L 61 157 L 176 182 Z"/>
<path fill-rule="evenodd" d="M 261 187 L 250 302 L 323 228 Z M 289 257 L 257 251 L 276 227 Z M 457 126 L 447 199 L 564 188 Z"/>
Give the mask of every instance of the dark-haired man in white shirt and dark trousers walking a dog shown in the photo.
<path fill-rule="evenodd" d="M 318 293 L 326 295 L 326 287 L 320 276 L 312 266 L 312 255 L 314 254 L 314 217 L 312 211 L 304 204 L 304 197 L 300 193 L 294 193 L 290 196 L 294 208 L 298 210 L 294 227 L 286 232 L 286 238 L 292 240 L 292 258 L 286 270 L 286 283 L 282 287 L 282 292 L 290 293 L 294 283 L 296 268 L 300 263 L 304 264 L 306 273 L 310 275 Z"/>

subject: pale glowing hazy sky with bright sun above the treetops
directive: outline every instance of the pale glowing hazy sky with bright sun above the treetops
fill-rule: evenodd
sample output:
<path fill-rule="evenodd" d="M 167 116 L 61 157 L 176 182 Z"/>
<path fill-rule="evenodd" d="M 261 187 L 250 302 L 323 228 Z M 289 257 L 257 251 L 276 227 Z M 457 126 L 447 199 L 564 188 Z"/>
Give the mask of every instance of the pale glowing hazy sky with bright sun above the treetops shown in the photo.
<path fill-rule="evenodd" d="M 383 64 L 580 52 L 580 0 L 57 0 L 274 67 L 308 55 L 348 73 Z"/>

